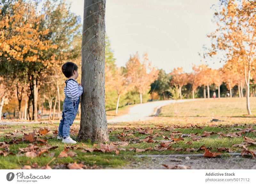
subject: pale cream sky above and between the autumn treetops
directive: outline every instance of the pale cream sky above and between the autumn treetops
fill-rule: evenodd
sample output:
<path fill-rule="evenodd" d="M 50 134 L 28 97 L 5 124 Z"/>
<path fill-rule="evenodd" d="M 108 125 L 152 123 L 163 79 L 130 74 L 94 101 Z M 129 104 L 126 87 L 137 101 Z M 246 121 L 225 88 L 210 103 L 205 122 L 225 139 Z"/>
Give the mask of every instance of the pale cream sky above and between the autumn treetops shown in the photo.
<path fill-rule="evenodd" d="M 71 11 L 83 21 L 84 0 L 69 2 Z M 140 56 L 147 52 L 149 60 L 167 73 L 177 67 L 191 72 L 191 63 L 203 63 L 198 55 L 203 52 L 203 45 L 211 45 L 206 34 L 216 29 L 211 21 L 211 6 L 217 3 L 218 0 L 107 0 L 106 34 L 117 66 L 125 66 L 130 54 L 139 51 Z M 217 59 L 207 63 L 211 68 L 223 65 Z"/>

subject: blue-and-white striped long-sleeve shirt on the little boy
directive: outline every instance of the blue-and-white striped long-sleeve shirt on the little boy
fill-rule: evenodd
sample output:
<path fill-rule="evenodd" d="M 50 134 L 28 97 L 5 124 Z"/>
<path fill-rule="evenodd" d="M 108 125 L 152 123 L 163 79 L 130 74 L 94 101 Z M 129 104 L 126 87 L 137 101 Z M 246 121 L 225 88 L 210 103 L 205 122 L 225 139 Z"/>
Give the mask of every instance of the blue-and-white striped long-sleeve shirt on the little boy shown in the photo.
<path fill-rule="evenodd" d="M 64 87 L 64 94 L 66 93 L 66 86 Z M 83 93 L 83 87 L 71 79 L 67 82 L 67 96 L 73 100 L 77 100 Z"/>

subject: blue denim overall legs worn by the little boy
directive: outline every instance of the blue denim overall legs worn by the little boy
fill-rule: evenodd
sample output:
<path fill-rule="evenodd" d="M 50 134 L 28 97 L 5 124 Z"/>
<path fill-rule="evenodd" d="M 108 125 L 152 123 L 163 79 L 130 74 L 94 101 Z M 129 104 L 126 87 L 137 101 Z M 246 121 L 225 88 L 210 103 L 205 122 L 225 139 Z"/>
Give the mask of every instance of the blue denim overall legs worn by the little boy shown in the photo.
<path fill-rule="evenodd" d="M 72 100 L 70 98 L 65 98 L 62 110 L 62 119 L 60 120 L 58 135 L 64 137 L 69 137 L 70 126 L 73 124 L 76 113 L 78 110 L 78 105 L 80 102 L 80 97 L 78 100 Z"/>

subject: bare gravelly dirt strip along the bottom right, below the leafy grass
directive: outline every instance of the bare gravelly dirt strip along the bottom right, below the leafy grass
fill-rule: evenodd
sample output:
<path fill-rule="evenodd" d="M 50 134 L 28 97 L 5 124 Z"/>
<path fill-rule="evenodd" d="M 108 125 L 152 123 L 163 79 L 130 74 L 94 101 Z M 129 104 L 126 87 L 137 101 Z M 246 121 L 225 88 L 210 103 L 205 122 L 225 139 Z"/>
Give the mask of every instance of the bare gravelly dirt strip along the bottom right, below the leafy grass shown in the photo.
<path fill-rule="evenodd" d="M 140 162 L 131 161 L 130 163 L 115 167 L 115 169 L 167 169 L 162 164 L 174 166 L 185 165 L 191 169 L 256 169 L 256 160 L 252 158 L 243 158 L 239 155 L 222 156 L 216 158 L 205 158 L 198 156 L 165 156 L 142 157 Z M 113 169 L 106 167 L 104 169 Z"/>

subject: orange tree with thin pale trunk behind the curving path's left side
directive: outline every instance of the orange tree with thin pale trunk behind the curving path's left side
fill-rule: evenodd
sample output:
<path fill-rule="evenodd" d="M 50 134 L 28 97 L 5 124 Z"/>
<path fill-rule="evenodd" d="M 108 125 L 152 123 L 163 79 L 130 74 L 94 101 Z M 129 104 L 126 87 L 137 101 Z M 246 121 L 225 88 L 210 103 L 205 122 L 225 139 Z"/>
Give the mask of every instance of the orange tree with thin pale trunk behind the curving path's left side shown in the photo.
<path fill-rule="evenodd" d="M 142 103 L 142 95 L 150 89 L 150 84 L 157 79 L 159 72 L 155 66 L 152 66 L 152 62 L 149 61 L 148 53 L 143 54 L 142 60 L 140 62 L 139 54 L 136 52 L 126 62 L 127 76 L 132 79 L 135 89 L 140 93 L 140 103 Z"/>

